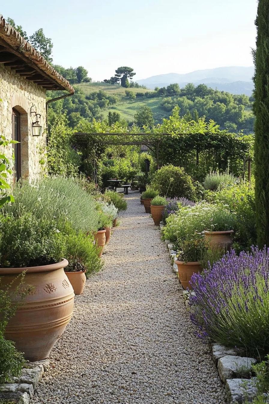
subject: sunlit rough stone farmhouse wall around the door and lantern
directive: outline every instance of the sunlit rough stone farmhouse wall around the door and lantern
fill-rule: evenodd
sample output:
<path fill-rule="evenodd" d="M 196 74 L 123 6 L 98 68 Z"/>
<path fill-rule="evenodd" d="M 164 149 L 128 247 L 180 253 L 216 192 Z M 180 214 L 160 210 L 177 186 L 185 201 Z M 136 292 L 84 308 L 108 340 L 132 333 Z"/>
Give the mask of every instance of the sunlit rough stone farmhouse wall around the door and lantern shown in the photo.
<path fill-rule="evenodd" d="M 46 90 L 0 64 L 0 99 L 0 135 L 12 139 L 12 109 L 21 114 L 21 177 L 31 181 L 44 172 Z M 32 135 L 32 123 L 37 120 L 30 114 L 32 105 L 33 110 L 41 115 L 42 135 L 39 137 Z M 8 153 L 9 157 L 12 156 L 12 146 Z"/>

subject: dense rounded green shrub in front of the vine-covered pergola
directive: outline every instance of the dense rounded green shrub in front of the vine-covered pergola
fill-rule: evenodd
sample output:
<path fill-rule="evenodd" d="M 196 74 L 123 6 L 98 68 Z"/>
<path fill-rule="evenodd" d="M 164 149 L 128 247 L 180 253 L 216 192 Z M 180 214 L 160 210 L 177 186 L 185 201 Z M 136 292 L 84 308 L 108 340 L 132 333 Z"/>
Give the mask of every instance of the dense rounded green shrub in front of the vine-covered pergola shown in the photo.
<path fill-rule="evenodd" d="M 196 200 L 195 187 L 191 177 L 184 168 L 172 164 L 161 167 L 153 176 L 152 185 L 161 196 L 167 198 L 181 197 Z"/>

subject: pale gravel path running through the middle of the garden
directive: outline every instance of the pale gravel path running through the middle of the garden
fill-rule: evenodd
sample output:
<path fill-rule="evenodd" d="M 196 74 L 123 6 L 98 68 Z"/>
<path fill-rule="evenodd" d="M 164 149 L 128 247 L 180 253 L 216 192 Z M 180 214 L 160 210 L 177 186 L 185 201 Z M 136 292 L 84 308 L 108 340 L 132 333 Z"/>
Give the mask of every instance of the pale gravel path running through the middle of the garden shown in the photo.
<path fill-rule="evenodd" d="M 160 231 L 126 196 L 104 270 L 75 298 L 73 318 L 31 403 L 218 404 L 224 388 L 194 335 Z"/>

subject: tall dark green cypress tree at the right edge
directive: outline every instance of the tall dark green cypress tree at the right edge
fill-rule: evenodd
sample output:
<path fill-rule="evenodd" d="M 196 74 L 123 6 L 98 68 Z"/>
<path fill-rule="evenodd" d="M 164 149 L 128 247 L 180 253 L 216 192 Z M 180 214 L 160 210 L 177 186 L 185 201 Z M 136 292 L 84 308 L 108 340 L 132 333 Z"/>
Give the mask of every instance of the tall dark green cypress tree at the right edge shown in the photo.
<path fill-rule="evenodd" d="M 255 205 L 259 247 L 269 247 L 269 0 L 259 0 L 253 51 Z"/>

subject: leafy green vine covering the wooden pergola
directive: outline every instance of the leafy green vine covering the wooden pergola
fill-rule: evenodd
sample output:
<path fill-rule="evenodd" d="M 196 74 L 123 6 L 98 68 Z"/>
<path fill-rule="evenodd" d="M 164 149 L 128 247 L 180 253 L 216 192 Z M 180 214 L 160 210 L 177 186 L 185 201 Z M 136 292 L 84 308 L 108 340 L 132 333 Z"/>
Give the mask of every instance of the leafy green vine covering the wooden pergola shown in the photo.
<path fill-rule="evenodd" d="M 179 116 L 176 107 L 169 119 L 162 124 L 144 127 L 143 131 L 133 125 L 123 127 L 119 122 L 108 126 L 106 122 L 85 122 L 76 128 L 75 145 L 82 150 L 83 158 L 96 168 L 96 160 L 105 148 L 113 145 L 146 145 L 156 159 L 157 166 L 172 163 L 184 166 L 200 179 L 199 166 L 206 170 L 229 168 L 236 175 L 242 174 L 243 160 L 252 149 L 251 136 L 241 136 L 220 130 L 219 125 L 204 118 L 188 121 Z M 200 170 L 201 171 L 201 170 Z M 203 168 L 203 171 L 205 169 Z"/>

